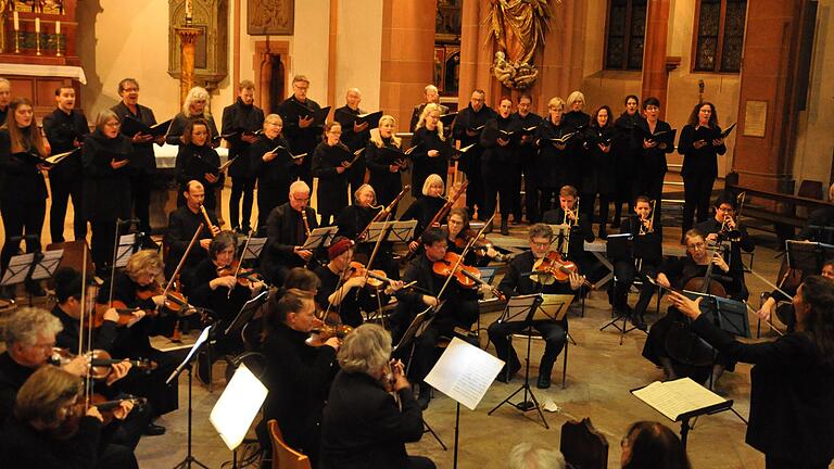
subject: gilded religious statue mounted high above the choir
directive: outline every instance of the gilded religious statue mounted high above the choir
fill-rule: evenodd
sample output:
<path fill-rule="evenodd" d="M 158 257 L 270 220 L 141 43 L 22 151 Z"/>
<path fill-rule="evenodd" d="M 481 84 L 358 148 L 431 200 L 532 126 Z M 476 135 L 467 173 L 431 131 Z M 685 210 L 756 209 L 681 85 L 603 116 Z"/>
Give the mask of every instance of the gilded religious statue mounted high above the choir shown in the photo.
<path fill-rule="evenodd" d="M 551 18 L 548 0 L 491 0 L 491 3 L 486 22 L 498 46 L 493 75 L 507 88 L 527 89 L 539 75 L 533 55 L 544 46 Z"/>

